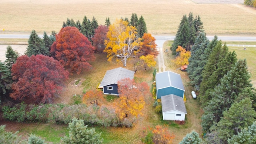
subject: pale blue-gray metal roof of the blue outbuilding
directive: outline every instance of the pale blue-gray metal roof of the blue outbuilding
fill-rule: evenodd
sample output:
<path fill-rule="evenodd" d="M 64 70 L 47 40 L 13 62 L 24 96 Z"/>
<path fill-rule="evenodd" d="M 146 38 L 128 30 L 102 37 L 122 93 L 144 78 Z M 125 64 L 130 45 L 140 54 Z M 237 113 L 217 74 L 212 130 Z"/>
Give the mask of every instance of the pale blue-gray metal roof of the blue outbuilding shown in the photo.
<path fill-rule="evenodd" d="M 156 74 L 156 89 L 174 87 L 181 90 L 185 90 L 180 74 L 174 72 L 165 71 Z"/>

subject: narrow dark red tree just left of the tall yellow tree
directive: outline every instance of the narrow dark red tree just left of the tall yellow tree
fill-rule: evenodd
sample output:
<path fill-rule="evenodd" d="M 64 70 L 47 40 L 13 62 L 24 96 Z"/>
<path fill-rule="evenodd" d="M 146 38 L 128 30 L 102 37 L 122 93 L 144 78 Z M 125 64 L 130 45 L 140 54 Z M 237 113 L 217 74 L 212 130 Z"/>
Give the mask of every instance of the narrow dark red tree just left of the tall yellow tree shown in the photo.
<path fill-rule="evenodd" d="M 92 38 L 93 46 L 96 52 L 103 52 L 105 49 L 105 40 L 107 38 L 108 27 L 106 25 L 100 25 L 95 29 L 94 37 Z"/>

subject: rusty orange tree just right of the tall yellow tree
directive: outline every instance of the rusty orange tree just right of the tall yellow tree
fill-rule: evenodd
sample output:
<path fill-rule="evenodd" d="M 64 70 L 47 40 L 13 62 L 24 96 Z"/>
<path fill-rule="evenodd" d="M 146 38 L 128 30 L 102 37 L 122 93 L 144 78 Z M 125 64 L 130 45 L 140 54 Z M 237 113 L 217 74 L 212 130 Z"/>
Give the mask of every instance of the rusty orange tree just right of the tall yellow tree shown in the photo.
<path fill-rule="evenodd" d="M 154 36 L 152 36 L 151 34 L 144 33 L 144 35 L 142 36 L 142 40 L 143 42 L 140 43 L 139 57 L 152 54 L 156 58 L 156 56 L 158 56 L 159 54 L 156 49 L 156 38 L 154 38 Z"/>

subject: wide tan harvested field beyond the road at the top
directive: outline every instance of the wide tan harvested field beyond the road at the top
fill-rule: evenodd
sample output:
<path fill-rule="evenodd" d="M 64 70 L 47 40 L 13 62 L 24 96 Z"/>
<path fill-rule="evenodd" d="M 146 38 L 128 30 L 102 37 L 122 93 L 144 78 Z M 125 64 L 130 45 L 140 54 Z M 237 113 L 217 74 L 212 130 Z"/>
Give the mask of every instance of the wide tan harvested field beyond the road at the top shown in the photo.
<path fill-rule="evenodd" d="M 217 3 L 216 3 L 217 2 Z M 223 1 L 222 1 L 223 2 Z M 184 14 L 193 12 L 204 23 L 206 34 L 256 35 L 256 10 L 243 4 L 211 0 L 1 0 L 0 34 L 30 34 L 32 30 L 48 34 L 59 32 L 63 21 L 84 16 L 98 24 L 106 18 L 128 18 L 141 15 L 151 34 L 175 34 Z"/>

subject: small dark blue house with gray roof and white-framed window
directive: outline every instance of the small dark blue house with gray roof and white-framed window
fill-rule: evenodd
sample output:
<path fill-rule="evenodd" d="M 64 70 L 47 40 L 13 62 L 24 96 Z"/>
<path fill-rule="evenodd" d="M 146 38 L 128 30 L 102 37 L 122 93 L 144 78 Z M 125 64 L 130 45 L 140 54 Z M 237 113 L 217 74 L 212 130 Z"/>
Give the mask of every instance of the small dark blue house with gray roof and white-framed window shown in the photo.
<path fill-rule="evenodd" d="M 117 92 L 117 82 L 119 80 L 130 78 L 133 79 L 134 71 L 127 70 L 125 68 L 119 67 L 112 70 L 107 70 L 99 88 L 103 88 L 104 94 L 118 95 Z"/>

